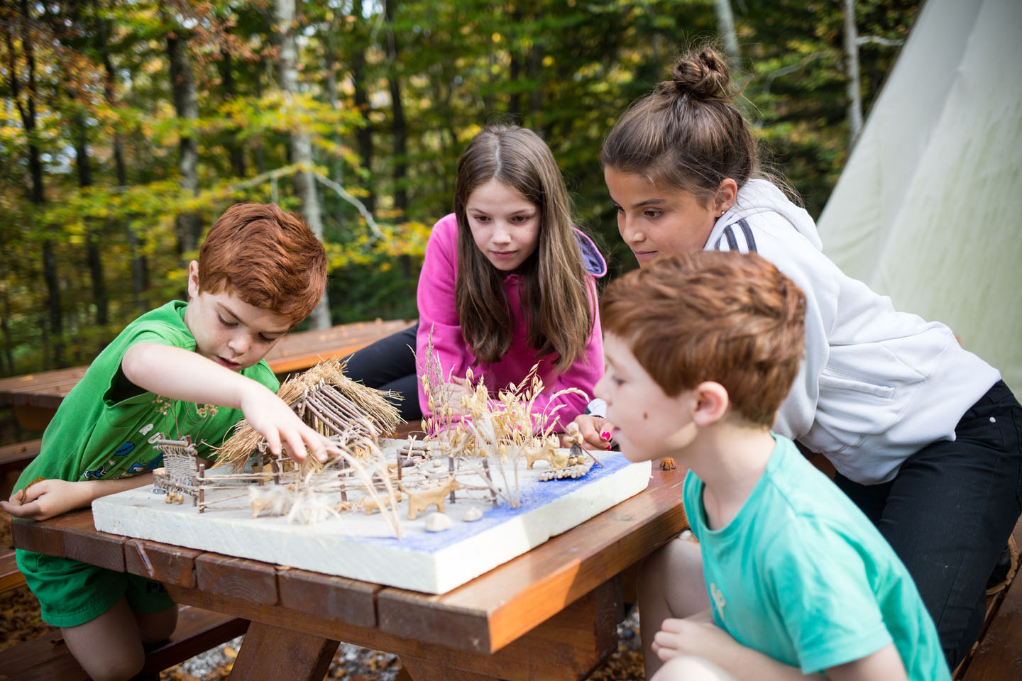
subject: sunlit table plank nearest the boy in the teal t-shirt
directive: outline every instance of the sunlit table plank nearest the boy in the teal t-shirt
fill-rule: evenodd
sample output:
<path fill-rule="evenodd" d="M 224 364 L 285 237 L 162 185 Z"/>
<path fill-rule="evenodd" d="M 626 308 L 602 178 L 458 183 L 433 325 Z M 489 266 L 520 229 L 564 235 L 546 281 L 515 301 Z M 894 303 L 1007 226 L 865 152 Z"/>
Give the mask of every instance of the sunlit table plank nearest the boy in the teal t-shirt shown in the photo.
<path fill-rule="evenodd" d="M 556 614 L 685 530 L 684 480 L 681 469 L 654 466 L 644 492 L 448 593 L 385 588 L 377 595 L 379 627 L 426 642 L 457 639 L 478 652 L 499 650 L 537 620 Z"/>

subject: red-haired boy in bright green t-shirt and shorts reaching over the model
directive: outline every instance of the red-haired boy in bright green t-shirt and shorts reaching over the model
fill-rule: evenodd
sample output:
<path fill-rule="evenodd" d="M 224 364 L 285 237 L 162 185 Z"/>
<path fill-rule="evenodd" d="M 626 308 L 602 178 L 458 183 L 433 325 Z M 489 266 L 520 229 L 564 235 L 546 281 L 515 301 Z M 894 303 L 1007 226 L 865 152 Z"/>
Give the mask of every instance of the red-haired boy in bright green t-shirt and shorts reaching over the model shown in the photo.
<path fill-rule="evenodd" d="M 274 453 L 323 460 L 333 445 L 277 396 L 264 357 L 325 285 L 323 245 L 300 217 L 274 203 L 228 208 L 188 266 L 188 302 L 141 315 L 96 357 L 0 507 L 43 520 L 150 484 L 156 439 L 190 435 L 208 457 L 242 418 Z M 24 550 L 17 565 L 94 679 L 134 676 L 143 644 L 174 631 L 177 607 L 157 582 Z"/>

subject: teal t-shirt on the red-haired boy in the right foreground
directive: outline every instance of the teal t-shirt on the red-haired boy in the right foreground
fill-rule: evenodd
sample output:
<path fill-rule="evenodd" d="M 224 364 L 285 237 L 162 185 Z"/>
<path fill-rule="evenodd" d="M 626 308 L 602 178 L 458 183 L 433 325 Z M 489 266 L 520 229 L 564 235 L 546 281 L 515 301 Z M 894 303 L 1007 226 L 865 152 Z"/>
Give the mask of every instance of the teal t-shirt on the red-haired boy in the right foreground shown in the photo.
<path fill-rule="evenodd" d="M 894 550 L 791 440 L 774 438 L 762 477 L 724 528 L 706 527 L 703 482 L 691 472 L 685 480 L 716 624 L 804 674 L 893 641 L 910 679 L 949 680 L 936 627 Z"/>

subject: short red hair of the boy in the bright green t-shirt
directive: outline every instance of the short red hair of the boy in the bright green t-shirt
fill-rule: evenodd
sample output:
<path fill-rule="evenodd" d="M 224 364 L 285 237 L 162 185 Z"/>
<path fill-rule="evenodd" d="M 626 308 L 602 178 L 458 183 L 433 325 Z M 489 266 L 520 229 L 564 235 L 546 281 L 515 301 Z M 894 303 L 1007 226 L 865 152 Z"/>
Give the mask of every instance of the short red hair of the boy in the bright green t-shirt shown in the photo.
<path fill-rule="evenodd" d="M 299 215 L 276 203 L 236 203 L 205 235 L 198 281 L 202 291 L 229 288 L 297 324 L 323 296 L 326 252 Z"/>

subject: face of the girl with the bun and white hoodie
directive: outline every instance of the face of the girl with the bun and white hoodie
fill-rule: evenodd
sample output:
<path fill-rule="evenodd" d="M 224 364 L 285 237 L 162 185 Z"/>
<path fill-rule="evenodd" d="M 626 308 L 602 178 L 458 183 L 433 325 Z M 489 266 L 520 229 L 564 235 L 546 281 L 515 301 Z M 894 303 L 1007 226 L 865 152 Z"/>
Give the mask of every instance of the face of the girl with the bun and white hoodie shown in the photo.
<path fill-rule="evenodd" d="M 606 167 L 603 179 L 617 208 L 617 231 L 639 266 L 658 255 L 702 250 L 721 216 L 713 201 L 703 206 L 692 192 L 655 185 L 637 173 Z"/>

